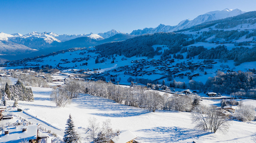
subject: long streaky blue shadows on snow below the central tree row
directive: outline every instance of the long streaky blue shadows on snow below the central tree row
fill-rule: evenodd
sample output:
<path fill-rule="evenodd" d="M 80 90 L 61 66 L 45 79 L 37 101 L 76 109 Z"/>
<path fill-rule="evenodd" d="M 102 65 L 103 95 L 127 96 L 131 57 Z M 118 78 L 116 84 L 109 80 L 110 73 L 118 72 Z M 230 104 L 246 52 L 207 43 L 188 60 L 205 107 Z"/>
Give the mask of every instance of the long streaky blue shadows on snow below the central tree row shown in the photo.
<path fill-rule="evenodd" d="M 72 100 L 76 107 L 84 109 L 96 109 L 102 113 L 92 113 L 94 115 L 106 117 L 128 117 L 149 113 L 146 109 L 118 104 L 114 100 L 88 94 L 80 95 Z"/>

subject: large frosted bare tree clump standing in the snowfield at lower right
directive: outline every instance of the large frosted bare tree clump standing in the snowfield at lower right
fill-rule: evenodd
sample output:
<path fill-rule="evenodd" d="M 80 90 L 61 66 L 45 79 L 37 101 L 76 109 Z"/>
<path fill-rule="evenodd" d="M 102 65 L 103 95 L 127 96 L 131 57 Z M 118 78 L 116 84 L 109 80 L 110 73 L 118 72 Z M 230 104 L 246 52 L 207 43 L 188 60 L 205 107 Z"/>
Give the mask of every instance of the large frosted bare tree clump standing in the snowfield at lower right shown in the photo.
<path fill-rule="evenodd" d="M 226 130 L 229 127 L 229 117 L 223 114 L 223 110 L 217 106 L 196 106 L 192 112 L 192 121 L 204 130 Z"/>

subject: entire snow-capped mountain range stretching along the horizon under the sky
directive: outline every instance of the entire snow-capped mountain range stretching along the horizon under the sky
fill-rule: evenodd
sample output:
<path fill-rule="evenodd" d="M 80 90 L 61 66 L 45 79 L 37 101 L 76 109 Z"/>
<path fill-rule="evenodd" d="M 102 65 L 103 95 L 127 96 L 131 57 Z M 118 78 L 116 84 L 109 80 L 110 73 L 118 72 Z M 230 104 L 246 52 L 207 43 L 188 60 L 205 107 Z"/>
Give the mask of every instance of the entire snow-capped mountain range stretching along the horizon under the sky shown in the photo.
<path fill-rule="evenodd" d="M 130 34 L 116 31 L 114 29 L 98 34 L 56 34 L 53 32 L 31 32 L 28 34 L 6 34 L 0 33 L 0 55 L 1 58 L 14 60 L 17 58 L 26 58 L 32 55 L 47 54 L 57 50 L 73 47 L 90 47 L 108 42 L 123 41 L 134 36 L 142 34 L 153 34 L 158 32 L 172 32 L 176 30 L 190 28 L 204 22 L 223 19 L 243 14 L 241 10 L 225 9 L 222 11 L 208 12 L 199 15 L 193 20 L 186 19 L 176 26 L 166 26 L 160 24 L 156 28 L 144 28 L 143 30 L 134 30 Z M 16 55 L 16 57 L 14 57 Z M 11 57 L 10 57 L 11 56 Z"/>

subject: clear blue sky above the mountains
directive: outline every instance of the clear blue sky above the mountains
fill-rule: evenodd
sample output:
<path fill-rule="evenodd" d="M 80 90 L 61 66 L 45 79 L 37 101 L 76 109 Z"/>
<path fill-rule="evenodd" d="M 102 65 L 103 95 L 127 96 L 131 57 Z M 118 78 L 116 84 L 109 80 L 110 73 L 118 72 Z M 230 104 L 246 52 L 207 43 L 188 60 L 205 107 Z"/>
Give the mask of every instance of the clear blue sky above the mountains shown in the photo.
<path fill-rule="evenodd" d="M 0 32 L 83 34 L 111 29 L 130 33 L 177 25 L 215 11 L 256 11 L 255 0 L 0 0 Z"/>

